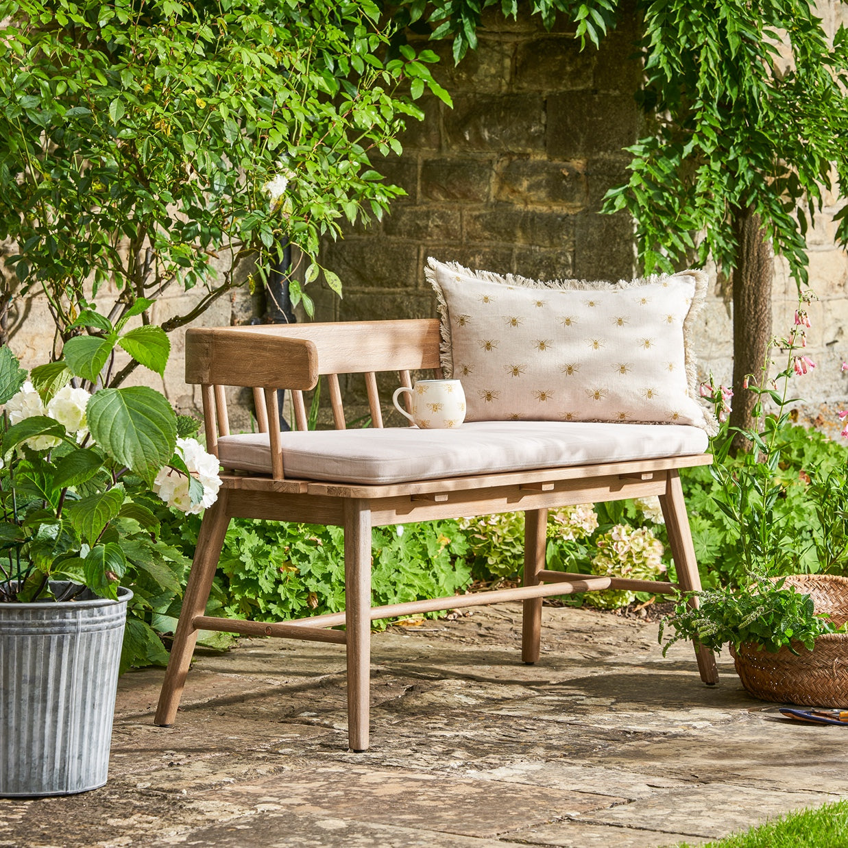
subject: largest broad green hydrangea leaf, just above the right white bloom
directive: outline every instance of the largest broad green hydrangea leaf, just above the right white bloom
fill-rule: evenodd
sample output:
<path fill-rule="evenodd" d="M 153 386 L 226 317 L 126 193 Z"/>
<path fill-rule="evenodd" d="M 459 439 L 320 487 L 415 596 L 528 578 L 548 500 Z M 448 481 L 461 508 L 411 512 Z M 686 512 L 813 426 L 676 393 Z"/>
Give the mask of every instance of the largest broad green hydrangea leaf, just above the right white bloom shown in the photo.
<path fill-rule="evenodd" d="M 147 483 L 174 455 L 176 415 L 153 388 L 103 388 L 88 401 L 86 419 L 103 450 Z"/>

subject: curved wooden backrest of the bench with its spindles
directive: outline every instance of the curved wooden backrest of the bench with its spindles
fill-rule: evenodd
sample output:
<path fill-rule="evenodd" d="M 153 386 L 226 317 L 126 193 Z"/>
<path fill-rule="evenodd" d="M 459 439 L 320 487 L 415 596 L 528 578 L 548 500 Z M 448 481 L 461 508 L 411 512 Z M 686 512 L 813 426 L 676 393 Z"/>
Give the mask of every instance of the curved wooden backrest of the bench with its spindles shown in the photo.
<path fill-rule="evenodd" d="M 305 430 L 304 391 L 326 377 L 333 422 L 344 429 L 338 377 L 362 374 L 371 423 L 382 427 L 377 374 L 397 372 L 400 385 L 410 388 L 410 371 L 433 369 L 440 377 L 438 347 L 435 319 L 198 327 L 186 333 L 186 382 L 201 387 L 207 449 L 214 453 L 217 437 L 230 433 L 224 387 L 252 388 L 259 430 L 270 433 L 274 456 L 280 431 L 278 389 L 291 391 L 294 423 Z M 404 397 L 410 399 L 408 393 Z M 282 460 L 274 477 L 278 472 L 282 478 Z"/>

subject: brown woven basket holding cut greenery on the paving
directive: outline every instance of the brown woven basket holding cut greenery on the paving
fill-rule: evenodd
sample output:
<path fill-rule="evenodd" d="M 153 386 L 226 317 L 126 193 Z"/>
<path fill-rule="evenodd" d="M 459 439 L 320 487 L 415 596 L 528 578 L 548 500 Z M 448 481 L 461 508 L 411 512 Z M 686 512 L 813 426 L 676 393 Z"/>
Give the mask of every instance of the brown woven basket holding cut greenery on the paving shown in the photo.
<path fill-rule="evenodd" d="M 837 625 L 848 621 L 848 577 L 794 574 L 787 586 L 809 594 L 817 612 Z M 812 651 L 797 644 L 798 654 L 781 648 L 776 654 L 742 644 L 730 655 L 742 685 L 755 698 L 801 706 L 848 707 L 848 633 L 828 633 L 816 639 Z"/>

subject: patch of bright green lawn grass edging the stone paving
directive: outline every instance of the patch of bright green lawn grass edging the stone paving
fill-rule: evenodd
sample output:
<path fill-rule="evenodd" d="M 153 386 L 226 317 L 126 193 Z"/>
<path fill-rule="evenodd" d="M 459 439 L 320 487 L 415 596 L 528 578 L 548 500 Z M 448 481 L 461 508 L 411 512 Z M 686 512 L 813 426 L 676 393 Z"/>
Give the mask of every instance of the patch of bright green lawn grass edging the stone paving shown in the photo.
<path fill-rule="evenodd" d="M 691 848 L 680 842 L 677 848 Z M 799 810 L 701 848 L 848 848 L 848 801 Z"/>

